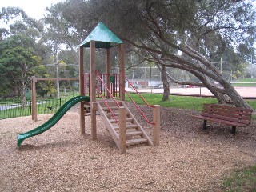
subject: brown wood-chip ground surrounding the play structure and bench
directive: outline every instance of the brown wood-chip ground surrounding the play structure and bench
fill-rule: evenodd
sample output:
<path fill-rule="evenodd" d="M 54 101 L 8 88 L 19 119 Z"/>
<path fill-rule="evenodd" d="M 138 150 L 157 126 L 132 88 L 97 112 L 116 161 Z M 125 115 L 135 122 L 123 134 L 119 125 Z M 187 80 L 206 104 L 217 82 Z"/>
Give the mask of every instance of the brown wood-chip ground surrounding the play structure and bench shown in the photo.
<path fill-rule="evenodd" d="M 146 114 L 151 110 L 142 107 Z M 130 106 L 130 110 L 133 107 Z M 256 122 L 230 134 L 230 126 L 191 118 L 199 112 L 162 108 L 160 146 L 130 147 L 119 154 L 100 116 L 98 140 L 79 132 L 74 107 L 50 130 L 22 142 L 16 136 L 52 114 L 0 121 L 0 191 L 222 191 L 222 175 L 256 162 Z M 140 114 L 138 121 L 146 126 Z M 149 117 L 151 118 L 151 117 Z"/>

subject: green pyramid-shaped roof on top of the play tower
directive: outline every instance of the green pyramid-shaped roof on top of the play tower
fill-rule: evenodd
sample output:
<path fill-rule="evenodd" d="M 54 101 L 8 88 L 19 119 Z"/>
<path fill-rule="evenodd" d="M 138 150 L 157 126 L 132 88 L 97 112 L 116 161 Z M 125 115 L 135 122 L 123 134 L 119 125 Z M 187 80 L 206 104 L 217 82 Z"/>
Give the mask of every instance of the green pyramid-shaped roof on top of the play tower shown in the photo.
<path fill-rule="evenodd" d="M 80 46 L 90 47 L 90 41 L 95 41 L 96 48 L 110 48 L 123 43 L 121 39 L 109 30 L 102 22 L 98 23 L 98 26 L 94 28 Z"/>

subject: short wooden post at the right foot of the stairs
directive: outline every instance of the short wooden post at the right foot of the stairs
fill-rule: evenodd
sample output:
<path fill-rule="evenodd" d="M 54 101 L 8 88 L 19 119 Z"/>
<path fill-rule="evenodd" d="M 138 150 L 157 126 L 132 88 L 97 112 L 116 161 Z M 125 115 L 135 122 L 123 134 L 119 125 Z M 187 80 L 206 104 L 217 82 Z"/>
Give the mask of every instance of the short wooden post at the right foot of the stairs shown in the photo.
<path fill-rule="evenodd" d="M 154 105 L 153 108 L 153 144 L 154 146 L 159 146 L 159 138 L 160 138 L 160 106 Z"/>

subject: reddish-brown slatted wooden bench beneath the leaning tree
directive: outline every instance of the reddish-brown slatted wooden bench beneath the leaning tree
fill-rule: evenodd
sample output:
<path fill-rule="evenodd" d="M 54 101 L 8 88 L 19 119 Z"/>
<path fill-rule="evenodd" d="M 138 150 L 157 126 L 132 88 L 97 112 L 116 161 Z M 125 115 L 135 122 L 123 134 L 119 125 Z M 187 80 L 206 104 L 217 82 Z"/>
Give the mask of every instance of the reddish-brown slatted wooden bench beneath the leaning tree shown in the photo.
<path fill-rule="evenodd" d="M 235 134 L 237 126 L 248 126 L 253 110 L 235 107 L 224 106 L 217 104 L 204 104 L 201 115 L 193 115 L 195 118 L 203 119 L 203 129 L 206 130 L 207 121 L 218 122 L 232 126 L 232 134 Z"/>

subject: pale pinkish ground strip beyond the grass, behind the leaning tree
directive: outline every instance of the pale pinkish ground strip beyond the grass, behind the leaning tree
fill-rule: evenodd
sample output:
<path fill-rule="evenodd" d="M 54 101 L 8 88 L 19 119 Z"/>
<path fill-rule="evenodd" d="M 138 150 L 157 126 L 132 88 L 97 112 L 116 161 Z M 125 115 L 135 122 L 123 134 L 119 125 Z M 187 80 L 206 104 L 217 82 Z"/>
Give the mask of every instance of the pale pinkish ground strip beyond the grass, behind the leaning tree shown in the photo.
<path fill-rule="evenodd" d="M 126 89 L 132 91 L 131 89 Z M 256 87 L 235 87 L 238 94 L 242 98 L 256 98 Z M 139 89 L 139 93 L 158 93 L 161 94 L 163 89 Z M 206 87 L 195 87 L 195 88 L 170 88 L 170 94 L 182 94 L 182 95 L 199 95 L 199 96 L 213 96 Z"/>

